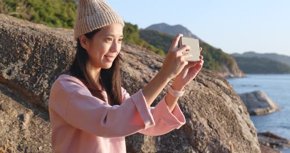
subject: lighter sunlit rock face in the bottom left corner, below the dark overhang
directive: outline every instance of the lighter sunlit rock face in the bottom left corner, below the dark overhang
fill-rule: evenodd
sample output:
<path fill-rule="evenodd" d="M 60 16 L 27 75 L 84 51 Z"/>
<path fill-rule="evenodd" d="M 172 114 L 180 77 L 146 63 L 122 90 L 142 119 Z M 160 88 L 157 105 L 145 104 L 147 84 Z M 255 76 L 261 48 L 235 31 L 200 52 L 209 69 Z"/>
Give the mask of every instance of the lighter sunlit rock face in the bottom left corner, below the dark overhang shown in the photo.
<path fill-rule="evenodd" d="M 0 100 L 0 153 L 52 153 L 48 112 L 1 84 Z"/>

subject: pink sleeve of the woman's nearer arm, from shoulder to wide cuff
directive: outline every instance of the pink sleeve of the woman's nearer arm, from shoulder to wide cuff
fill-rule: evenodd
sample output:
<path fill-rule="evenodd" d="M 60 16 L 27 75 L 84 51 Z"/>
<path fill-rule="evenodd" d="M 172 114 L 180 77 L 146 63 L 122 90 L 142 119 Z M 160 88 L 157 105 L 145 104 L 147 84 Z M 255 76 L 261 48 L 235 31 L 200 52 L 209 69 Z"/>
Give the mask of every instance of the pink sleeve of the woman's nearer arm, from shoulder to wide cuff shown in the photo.
<path fill-rule="evenodd" d="M 109 105 L 73 81 L 56 81 L 49 98 L 50 110 L 68 124 L 100 137 L 122 137 L 155 125 L 142 89 L 120 105 Z"/>

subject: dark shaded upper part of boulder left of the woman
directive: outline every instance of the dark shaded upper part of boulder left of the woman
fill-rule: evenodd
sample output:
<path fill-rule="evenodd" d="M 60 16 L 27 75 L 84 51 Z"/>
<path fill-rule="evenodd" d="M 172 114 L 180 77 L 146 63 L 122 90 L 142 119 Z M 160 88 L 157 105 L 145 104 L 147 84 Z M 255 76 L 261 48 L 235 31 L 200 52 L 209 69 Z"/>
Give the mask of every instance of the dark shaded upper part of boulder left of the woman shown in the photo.
<path fill-rule="evenodd" d="M 0 82 L 48 109 L 51 83 L 58 72 L 68 69 L 75 54 L 72 36 L 71 29 L 0 14 Z"/>

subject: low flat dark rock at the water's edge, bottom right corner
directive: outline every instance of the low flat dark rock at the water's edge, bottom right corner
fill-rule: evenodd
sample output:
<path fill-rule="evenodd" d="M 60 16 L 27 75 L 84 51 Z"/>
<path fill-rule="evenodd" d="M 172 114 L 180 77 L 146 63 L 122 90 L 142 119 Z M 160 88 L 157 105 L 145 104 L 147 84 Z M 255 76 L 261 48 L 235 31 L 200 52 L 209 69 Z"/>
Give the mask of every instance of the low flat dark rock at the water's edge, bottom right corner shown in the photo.
<path fill-rule="evenodd" d="M 271 148 L 290 148 L 290 140 L 271 132 L 258 133 L 259 143 Z"/>

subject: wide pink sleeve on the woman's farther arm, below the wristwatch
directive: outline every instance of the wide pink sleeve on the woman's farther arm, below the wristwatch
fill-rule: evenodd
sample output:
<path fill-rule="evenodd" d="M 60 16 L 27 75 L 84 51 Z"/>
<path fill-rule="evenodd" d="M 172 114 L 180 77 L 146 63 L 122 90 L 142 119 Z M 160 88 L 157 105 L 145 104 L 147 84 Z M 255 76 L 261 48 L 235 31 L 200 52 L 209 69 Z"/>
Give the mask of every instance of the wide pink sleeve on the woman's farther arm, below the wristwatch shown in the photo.
<path fill-rule="evenodd" d="M 124 99 L 130 97 L 126 90 L 123 89 Z M 142 93 L 142 96 L 143 93 Z M 144 98 L 145 99 L 145 98 Z M 162 135 L 172 131 L 173 129 L 178 129 L 185 124 L 185 117 L 180 110 L 180 107 L 176 103 L 173 111 L 171 112 L 166 104 L 165 96 L 155 107 L 150 107 L 150 113 L 153 116 L 155 125 L 146 129 L 139 131 L 139 133 L 145 135 Z"/>

